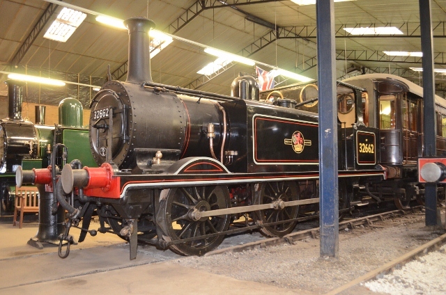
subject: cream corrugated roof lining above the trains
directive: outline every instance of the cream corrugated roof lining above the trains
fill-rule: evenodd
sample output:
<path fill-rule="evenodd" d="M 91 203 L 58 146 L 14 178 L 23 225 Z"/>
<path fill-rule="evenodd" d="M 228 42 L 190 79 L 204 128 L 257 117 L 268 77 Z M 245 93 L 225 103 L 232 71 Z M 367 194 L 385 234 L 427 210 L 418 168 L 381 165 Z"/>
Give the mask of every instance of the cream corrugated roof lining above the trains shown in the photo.
<path fill-rule="evenodd" d="M 161 31 L 168 31 L 167 28 L 173 22 L 183 24 L 192 15 L 196 15 L 197 8 L 201 8 L 201 6 L 194 5 L 201 1 L 194 0 L 67 0 L 64 2 L 121 19 L 132 16 L 148 16 L 153 19 L 157 29 Z M 215 3 L 215 1 L 205 2 L 206 5 Z M 221 1 L 216 2 L 221 4 Z M 227 2 L 233 3 L 233 1 Z M 2 19 L 0 22 L 0 70 L 15 70 L 11 68 L 10 63 L 49 4 L 43 0 L 0 1 L 0 19 Z M 338 54 L 338 78 L 344 77 L 346 68 L 351 65 L 369 67 L 376 71 L 387 68 L 391 70 L 391 73 L 394 69 L 421 67 L 421 64 L 418 63 L 420 58 L 416 63 L 408 61 L 403 63 L 401 62 L 402 58 L 380 58 L 380 61 L 376 61 L 378 58 L 369 54 L 376 52 L 383 56 L 382 51 L 384 50 L 421 51 L 420 38 L 410 36 L 420 35 L 418 5 L 417 0 L 357 0 L 335 3 L 335 26 L 340 29 L 339 36 L 345 35 L 344 30 L 341 30 L 343 26 L 390 26 L 393 24 L 401 27 L 404 33 L 408 33 L 404 37 L 349 38 L 346 36 L 337 38 L 336 47 L 339 51 L 357 50 L 368 53 L 367 55 L 364 52 L 364 55 L 359 57 L 350 55 L 347 59 L 344 59 L 345 54 Z M 62 6 L 59 6 L 43 31 L 37 35 L 33 45 L 23 55 L 17 70 L 24 69 L 26 65 L 26 67 L 41 68 L 43 72 L 57 70 L 86 76 L 106 77 L 107 65 L 110 65 L 113 72 L 127 61 L 128 33 L 99 24 L 93 15 L 88 15 L 65 43 L 43 38 L 47 27 L 61 8 Z M 184 15 L 186 11 L 188 11 L 187 16 Z M 434 41 L 436 53 L 442 53 L 446 45 L 443 31 L 445 16 L 446 1 L 433 1 L 432 20 L 433 25 L 437 26 L 434 35 L 438 36 Z M 261 19 L 263 24 L 259 24 L 259 21 L 254 24 L 249 20 L 253 17 Z M 267 23 L 269 26 L 287 27 L 290 30 L 290 35 L 305 36 L 309 31 L 314 30 L 316 25 L 316 8 L 314 5 L 298 6 L 291 1 L 254 3 L 235 8 L 208 8 L 199 12 L 175 35 L 234 54 L 240 53 L 245 48 L 259 49 L 259 38 L 266 36 L 261 49 L 252 54 L 250 58 L 262 63 L 277 65 L 285 70 L 296 72 L 305 70 L 303 74 L 315 79 L 317 75 L 315 63 L 307 63 L 316 57 L 316 38 L 313 38 L 315 34 L 309 38 L 274 40 L 266 45 L 268 44 L 268 34 L 272 31 Z M 255 45 L 250 47 L 253 43 Z M 244 54 L 246 55 L 247 51 Z M 364 58 L 364 56 L 366 57 Z M 198 79 L 198 81 L 206 81 L 203 86 L 200 86 L 200 90 L 229 94 L 231 81 L 237 77 L 238 72 L 255 72 L 254 67 L 238 64 L 210 81 L 197 74 L 201 67 L 214 60 L 215 57 L 204 53 L 201 47 L 175 40 L 152 59 L 153 80 L 184 87 Z M 410 61 L 415 60 L 410 59 Z M 445 67 L 446 63 L 443 58 L 438 57 L 436 61 L 436 67 Z M 371 72 L 373 71 L 371 70 Z M 419 77 L 419 73 L 410 70 L 404 72 L 404 75 L 415 79 Z M 3 81 L 6 76 L 1 75 L 0 79 Z M 122 79 L 125 79 L 125 76 Z M 440 83 L 439 89 L 443 88 L 443 81 L 439 79 L 438 82 Z"/>

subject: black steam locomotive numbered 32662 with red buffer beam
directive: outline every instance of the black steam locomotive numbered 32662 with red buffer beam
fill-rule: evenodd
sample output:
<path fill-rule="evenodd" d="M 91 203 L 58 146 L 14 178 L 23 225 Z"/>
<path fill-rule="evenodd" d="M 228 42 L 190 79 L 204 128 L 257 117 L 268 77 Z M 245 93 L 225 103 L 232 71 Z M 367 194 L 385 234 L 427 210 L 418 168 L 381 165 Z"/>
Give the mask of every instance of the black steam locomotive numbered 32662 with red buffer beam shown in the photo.
<path fill-rule="evenodd" d="M 125 24 L 127 81 L 108 81 L 91 104 L 91 152 L 100 167 L 67 164 L 54 188 L 71 223 L 84 217 L 88 230 L 97 212 L 100 231 L 107 223 L 130 241 L 130 258 L 138 240 L 203 255 L 225 234 L 256 229 L 283 236 L 317 210 L 316 85 L 259 96 L 255 79 L 242 76 L 233 82 L 233 96 L 226 96 L 153 83 L 153 22 L 133 17 Z M 380 161 L 387 158 L 378 100 L 374 88 L 367 89 L 337 83 L 339 209 L 385 198 L 405 207 L 423 191 L 406 162 Z M 23 171 L 17 180 L 32 182 L 38 173 Z"/>

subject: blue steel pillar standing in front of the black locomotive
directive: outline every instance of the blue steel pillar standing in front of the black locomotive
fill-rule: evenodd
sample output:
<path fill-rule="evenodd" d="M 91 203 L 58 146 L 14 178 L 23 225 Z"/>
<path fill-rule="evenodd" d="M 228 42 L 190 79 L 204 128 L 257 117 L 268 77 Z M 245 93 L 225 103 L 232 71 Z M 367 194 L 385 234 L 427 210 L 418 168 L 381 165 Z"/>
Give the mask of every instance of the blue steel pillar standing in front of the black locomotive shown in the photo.
<path fill-rule="evenodd" d="M 339 253 L 334 1 L 316 1 L 321 256 Z"/>

